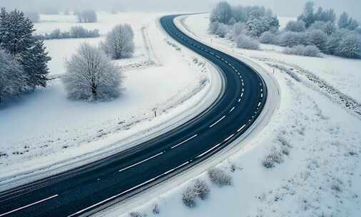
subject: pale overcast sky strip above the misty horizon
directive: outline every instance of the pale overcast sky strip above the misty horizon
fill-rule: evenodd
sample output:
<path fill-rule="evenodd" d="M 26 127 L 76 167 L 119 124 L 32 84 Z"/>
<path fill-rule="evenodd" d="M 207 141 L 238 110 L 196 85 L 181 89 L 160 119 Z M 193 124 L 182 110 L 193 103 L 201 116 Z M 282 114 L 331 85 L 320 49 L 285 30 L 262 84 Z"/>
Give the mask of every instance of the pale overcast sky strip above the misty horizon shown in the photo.
<path fill-rule="evenodd" d="M 46 8 L 123 11 L 210 11 L 220 0 L 0 0 L 0 6 L 34 11 Z M 232 4 L 263 5 L 279 16 L 298 16 L 307 0 L 229 0 Z M 316 6 L 347 11 L 361 21 L 361 0 L 314 0 Z"/>

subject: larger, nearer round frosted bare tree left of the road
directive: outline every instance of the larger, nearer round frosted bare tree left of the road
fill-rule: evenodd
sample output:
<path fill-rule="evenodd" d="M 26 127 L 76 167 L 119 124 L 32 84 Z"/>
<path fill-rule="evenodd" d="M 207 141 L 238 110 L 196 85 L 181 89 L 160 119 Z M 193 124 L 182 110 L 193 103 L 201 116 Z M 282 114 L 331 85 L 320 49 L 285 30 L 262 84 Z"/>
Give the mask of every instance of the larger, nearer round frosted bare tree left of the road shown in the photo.
<path fill-rule="evenodd" d="M 82 44 L 78 54 L 66 61 L 62 78 L 69 99 L 104 101 L 121 94 L 118 67 L 100 49 Z"/>

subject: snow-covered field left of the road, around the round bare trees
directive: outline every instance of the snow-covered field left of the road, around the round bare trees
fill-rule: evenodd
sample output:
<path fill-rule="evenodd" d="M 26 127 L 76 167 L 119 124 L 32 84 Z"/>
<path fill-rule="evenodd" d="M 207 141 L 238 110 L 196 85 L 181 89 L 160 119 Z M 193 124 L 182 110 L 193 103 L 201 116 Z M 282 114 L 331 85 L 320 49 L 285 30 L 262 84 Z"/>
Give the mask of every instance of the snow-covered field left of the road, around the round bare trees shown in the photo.
<path fill-rule="evenodd" d="M 218 94 L 210 86 L 214 74 L 210 71 L 214 69 L 188 51 L 171 46 L 158 27 L 158 16 L 161 14 L 101 14 L 100 23 L 90 24 L 102 32 L 123 22 L 136 29 L 136 56 L 118 61 L 120 66 L 141 63 L 143 59 L 157 63 L 135 69 L 124 67 L 125 91 L 118 99 L 99 103 L 69 101 L 60 79 L 54 79 L 46 88 L 36 89 L 1 107 L 1 188 L 9 187 L 5 183 L 19 174 L 28 177 L 39 168 L 68 163 L 68 159 L 85 157 L 88 153 L 109 154 L 116 148 L 119 150 L 123 145 L 133 144 L 137 137 L 155 133 L 163 123 L 171 126 L 196 115 L 199 111 L 195 109 L 205 105 L 203 101 L 208 99 L 206 103 L 212 103 Z M 64 16 L 45 18 L 51 22 L 36 24 L 41 31 L 78 25 L 56 22 L 56 19 L 68 21 Z M 53 58 L 49 64 L 51 74 L 64 73 L 63 60 L 74 54 L 81 42 L 96 45 L 99 40 L 46 41 Z M 119 142 L 124 140 L 128 142 Z"/>

